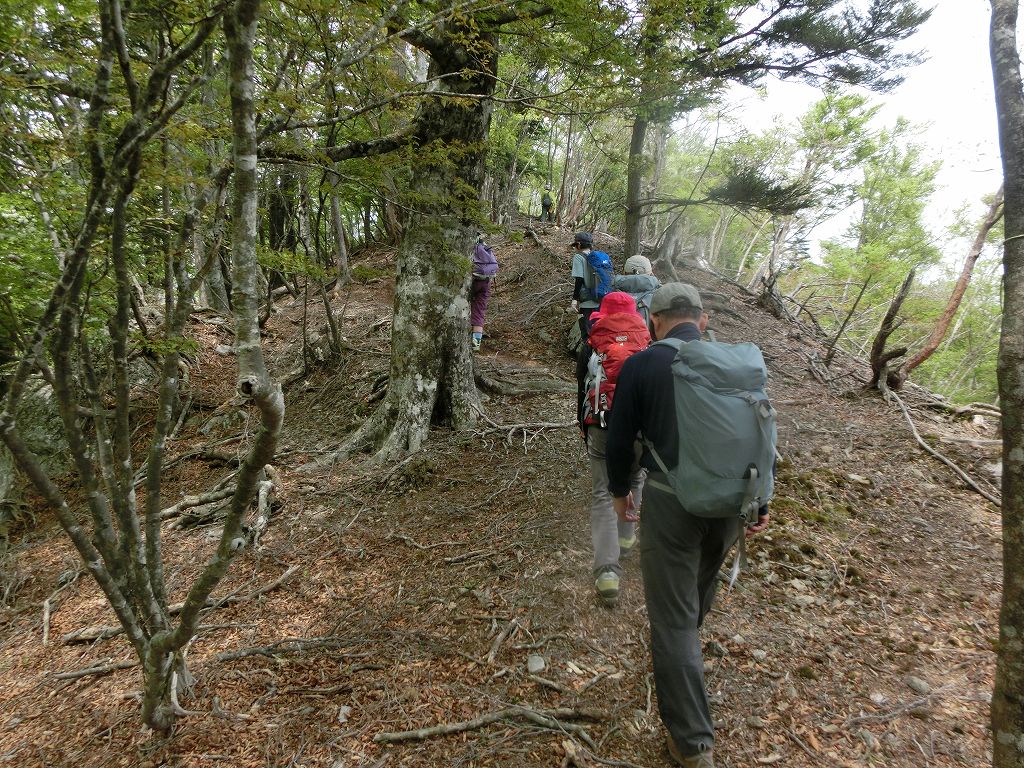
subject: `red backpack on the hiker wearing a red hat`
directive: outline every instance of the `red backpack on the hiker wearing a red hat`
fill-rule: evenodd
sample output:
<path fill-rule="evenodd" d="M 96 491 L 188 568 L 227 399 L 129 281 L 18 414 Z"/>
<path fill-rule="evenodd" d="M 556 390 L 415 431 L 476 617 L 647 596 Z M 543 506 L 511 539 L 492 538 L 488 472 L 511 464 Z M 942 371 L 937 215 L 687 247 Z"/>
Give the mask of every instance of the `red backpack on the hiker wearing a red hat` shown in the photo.
<path fill-rule="evenodd" d="M 650 332 L 635 311 L 616 312 L 604 314 L 594 324 L 589 341 L 594 352 L 585 383 L 584 424 L 607 428 L 618 372 L 627 357 L 647 348 Z"/>

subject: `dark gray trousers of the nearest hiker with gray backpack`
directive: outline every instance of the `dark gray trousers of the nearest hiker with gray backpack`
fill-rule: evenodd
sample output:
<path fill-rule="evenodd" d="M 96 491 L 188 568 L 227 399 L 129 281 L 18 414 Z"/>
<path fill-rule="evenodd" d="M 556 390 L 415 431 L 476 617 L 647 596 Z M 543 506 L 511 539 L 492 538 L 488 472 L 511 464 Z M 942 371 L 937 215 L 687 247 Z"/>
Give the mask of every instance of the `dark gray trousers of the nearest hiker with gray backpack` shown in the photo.
<path fill-rule="evenodd" d="M 711 609 L 719 568 L 742 532 L 738 517 L 689 514 L 650 473 L 644 492 L 640 566 L 650 620 L 650 655 L 662 722 L 684 757 L 711 749 L 715 728 L 703 682 L 699 627 Z"/>

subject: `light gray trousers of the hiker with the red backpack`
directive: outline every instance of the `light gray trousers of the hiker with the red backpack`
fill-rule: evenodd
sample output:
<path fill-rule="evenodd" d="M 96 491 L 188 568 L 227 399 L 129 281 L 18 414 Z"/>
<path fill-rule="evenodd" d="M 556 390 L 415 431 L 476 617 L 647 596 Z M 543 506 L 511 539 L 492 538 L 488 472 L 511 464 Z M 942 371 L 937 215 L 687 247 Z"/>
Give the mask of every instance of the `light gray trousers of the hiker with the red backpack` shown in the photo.
<path fill-rule="evenodd" d="M 608 493 L 608 469 L 604 464 L 604 446 L 608 442 L 607 430 L 590 427 L 587 430 L 587 456 L 590 457 L 590 478 L 593 483 L 590 496 L 590 538 L 594 546 L 594 575 L 610 566 L 618 575 L 623 569 L 618 564 L 618 540 L 632 539 L 636 535 L 635 522 L 622 522 L 611 504 Z M 633 503 L 639 509 L 643 497 L 643 481 L 647 471 L 640 466 L 640 444 L 636 446 L 636 459 L 630 475 Z"/>

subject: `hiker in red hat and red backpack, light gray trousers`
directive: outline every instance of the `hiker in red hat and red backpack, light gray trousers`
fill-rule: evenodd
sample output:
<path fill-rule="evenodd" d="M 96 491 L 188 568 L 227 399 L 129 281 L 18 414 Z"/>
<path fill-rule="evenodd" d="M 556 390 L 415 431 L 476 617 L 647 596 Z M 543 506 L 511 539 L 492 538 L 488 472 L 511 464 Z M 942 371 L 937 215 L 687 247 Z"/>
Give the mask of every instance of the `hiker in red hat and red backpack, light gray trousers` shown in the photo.
<path fill-rule="evenodd" d="M 607 425 L 614 402 L 618 372 L 626 359 L 646 349 L 650 343 L 647 323 L 637 311 L 636 300 L 627 293 L 612 292 L 601 301 L 601 308 L 591 314 L 590 358 L 584 403 L 583 429 L 587 439 L 592 482 L 590 536 L 594 548 L 593 578 L 598 596 L 606 605 L 618 599 L 623 575 L 620 559 L 636 546 L 636 522 L 620 520 L 608 493 L 608 472 L 604 461 Z M 640 443 L 636 443 L 630 487 L 639 506 L 645 472 L 640 468 Z"/>

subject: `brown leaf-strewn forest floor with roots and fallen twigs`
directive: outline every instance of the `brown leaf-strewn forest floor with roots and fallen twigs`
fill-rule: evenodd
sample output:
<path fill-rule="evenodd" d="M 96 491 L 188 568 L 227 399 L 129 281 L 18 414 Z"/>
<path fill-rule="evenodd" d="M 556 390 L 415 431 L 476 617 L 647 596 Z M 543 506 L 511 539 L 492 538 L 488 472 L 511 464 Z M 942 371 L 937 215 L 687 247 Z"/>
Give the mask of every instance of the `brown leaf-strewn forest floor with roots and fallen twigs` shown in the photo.
<path fill-rule="evenodd" d="M 382 391 L 392 286 L 381 278 L 332 297 L 345 349 L 287 390 L 270 526 L 218 588 L 228 599 L 188 650 L 189 714 L 168 738 L 139 726 L 123 636 L 66 641 L 114 616 L 39 513 L 7 563 L 16 589 L 0 609 L 0 763 L 669 765 L 638 562 L 627 561 L 617 607 L 594 592 L 590 476 L 562 344 L 570 236 L 540 237 L 544 247 L 495 239 L 502 275 L 477 357 L 486 377 L 532 391 L 490 394 L 474 432 L 435 430 L 394 466 L 324 463 Z M 614 243 L 598 246 L 621 263 Z M 356 263 L 389 275 L 393 259 L 376 250 Z M 703 630 L 718 764 L 990 763 L 998 510 L 920 447 L 896 406 L 864 391 L 862 364 L 841 355 L 825 377 L 806 328 L 707 272 L 683 276 L 706 292 L 720 340 L 765 351 L 783 457 L 772 525 Z M 324 307 L 286 297 L 275 309 L 266 342 L 283 379 L 301 370 L 303 324 L 316 346 Z M 253 428 L 237 418 L 233 358 L 215 352 L 229 332 L 209 317 L 195 331 L 193 416 L 171 446 L 182 459 L 165 473 L 166 504 L 229 473 Z M 996 424 L 943 413 L 920 390 L 904 397 L 930 444 L 992 482 Z M 181 595 L 219 529 L 171 524 L 168 573 Z M 544 665 L 535 674 L 531 655 Z"/>

